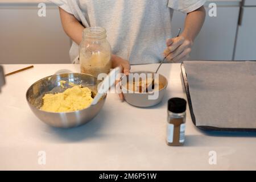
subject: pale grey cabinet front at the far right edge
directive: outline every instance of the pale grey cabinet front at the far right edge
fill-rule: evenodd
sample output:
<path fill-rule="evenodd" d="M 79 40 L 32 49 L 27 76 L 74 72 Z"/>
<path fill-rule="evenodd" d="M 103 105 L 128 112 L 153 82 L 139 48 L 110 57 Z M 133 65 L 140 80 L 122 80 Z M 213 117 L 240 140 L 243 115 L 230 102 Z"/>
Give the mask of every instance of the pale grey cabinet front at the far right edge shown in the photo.
<path fill-rule="evenodd" d="M 241 7 L 235 60 L 256 60 L 256 1 L 245 1 Z"/>

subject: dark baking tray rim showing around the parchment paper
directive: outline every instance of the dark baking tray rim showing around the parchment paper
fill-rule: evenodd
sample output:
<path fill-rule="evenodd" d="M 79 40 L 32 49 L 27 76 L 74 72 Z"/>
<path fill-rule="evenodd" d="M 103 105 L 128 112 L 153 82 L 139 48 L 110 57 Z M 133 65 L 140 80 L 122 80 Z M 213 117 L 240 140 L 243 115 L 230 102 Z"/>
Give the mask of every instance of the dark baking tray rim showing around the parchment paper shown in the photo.
<path fill-rule="evenodd" d="M 244 128 L 222 128 L 222 127 L 212 127 L 212 126 L 197 126 L 196 125 L 196 116 L 193 112 L 193 107 L 192 107 L 192 102 L 191 102 L 191 96 L 189 93 L 189 84 L 188 84 L 188 80 L 187 80 L 187 73 L 185 72 L 185 67 L 184 64 L 181 63 L 181 73 L 182 73 L 182 77 L 183 77 L 183 83 L 184 83 L 184 89 L 185 89 L 185 93 L 187 95 L 187 100 L 188 100 L 188 106 L 189 106 L 189 111 L 191 114 L 191 119 L 193 124 L 200 130 L 204 130 L 204 131 L 238 131 L 238 132 L 256 132 L 256 129 L 244 129 Z"/>

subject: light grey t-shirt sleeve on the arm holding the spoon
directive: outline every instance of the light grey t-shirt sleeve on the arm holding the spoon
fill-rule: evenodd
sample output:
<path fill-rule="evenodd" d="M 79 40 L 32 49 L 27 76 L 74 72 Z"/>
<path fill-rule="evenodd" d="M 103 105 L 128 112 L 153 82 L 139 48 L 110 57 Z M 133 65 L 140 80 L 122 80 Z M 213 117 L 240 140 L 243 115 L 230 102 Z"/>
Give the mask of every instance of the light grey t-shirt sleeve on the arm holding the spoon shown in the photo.
<path fill-rule="evenodd" d="M 168 7 L 183 13 L 190 13 L 199 9 L 205 2 L 206 0 L 168 0 Z"/>

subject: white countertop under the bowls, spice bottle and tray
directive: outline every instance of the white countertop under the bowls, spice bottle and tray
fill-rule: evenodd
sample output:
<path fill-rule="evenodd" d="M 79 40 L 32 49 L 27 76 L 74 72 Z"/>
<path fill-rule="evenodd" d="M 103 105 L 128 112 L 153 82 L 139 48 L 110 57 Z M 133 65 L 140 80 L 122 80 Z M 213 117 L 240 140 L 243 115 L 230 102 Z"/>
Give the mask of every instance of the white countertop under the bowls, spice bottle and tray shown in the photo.
<path fill-rule="evenodd" d="M 27 65 L 3 65 L 5 72 Z M 132 66 L 132 71 L 154 71 L 156 64 Z M 183 97 L 180 64 L 164 64 L 168 78 L 161 104 L 148 109 L 120 102 L 108 94 L 93 121 L 76 129 L 54 129 L 32 113 L 25 94 L 28 87 L 59 69 L 79 72 L 79 65 L 35 65 L 7 77 L 0 94 L 0 169 L 170 170 L 256 169 L 256 142 L 252 134 L 210 134 L 196 129 L 187 111 L 185 145 L 165 142 L 167 100 Z M 46 165 L 38 164 L 38 152 L 46 151 Z M 209 152 L 217 152 L 217 165 L 209 164 Z"/>

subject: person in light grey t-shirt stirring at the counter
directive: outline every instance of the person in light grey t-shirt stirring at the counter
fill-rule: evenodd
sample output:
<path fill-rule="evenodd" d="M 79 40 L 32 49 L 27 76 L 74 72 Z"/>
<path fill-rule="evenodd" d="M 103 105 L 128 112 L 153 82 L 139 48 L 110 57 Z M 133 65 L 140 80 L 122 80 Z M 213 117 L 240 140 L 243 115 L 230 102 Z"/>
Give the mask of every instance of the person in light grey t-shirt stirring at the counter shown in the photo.
<path fill-rule="evenodd" d="M 73 40 L 69 55 L 79 63 L 79 44 L 86 27 L 106 29 L 113 67 L 126 75 L 130 65 L 188 59 L 205 19 L 205 0 L 49 0 L 59 6 L 61 23 Z M 184 30 L 172 38 L 174 10 L 186 13 Z"/>

